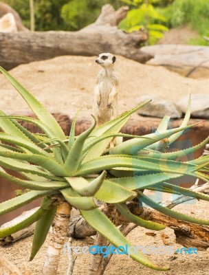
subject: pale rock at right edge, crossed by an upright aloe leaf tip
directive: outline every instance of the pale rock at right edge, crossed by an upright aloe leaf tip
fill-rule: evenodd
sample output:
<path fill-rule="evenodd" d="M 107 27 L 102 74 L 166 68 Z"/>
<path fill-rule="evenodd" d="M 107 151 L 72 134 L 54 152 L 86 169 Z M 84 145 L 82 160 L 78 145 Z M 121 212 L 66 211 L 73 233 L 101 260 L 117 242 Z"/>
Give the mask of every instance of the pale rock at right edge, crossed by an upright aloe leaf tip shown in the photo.
<path fill-rule="evenodd" d="M 186 112 L 188 96 L 178 102 L 183 113 Z M 209 119 L 209 94 L 192 94 L 191 118 Z"/>

